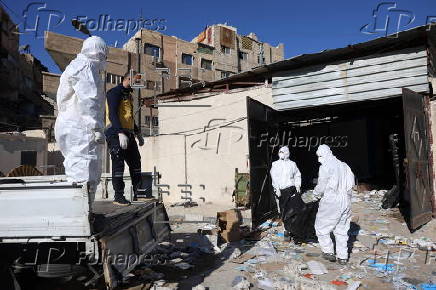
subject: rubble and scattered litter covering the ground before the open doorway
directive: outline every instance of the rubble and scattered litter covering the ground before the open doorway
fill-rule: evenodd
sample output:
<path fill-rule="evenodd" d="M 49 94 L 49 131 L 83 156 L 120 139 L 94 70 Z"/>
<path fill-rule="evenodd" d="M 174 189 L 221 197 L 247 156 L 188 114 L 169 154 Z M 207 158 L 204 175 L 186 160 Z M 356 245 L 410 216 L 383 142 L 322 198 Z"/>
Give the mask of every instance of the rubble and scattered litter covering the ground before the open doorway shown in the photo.
<path fill-rule="evenodd" d="M 184 239 L 161 243 L 153 258 L 164 262 L 141 265 L 132 274 L 148 283 L 149 288 L 139 289 L 177 289 L 181 284 L 174 282 L 200 276 L 196 289 L 435 290 L 436 225 L 432 222 L 428 230 L 411 234 L 398 209 L 381 207 L 386 192 L 353 194 L 350 259 L 344 266 L 324 260 L 315 242 L 285 240 L 278 220 L 249 232 L 238 212 L 229 210 L 217 214 L 216 224 L 193 224 Z M 208 275 L 219 277 L 222 271 L 202 268 L 199 264 L 206 257 L 230 273 L 228 286 L 209 282 L 205 287 Z"/>

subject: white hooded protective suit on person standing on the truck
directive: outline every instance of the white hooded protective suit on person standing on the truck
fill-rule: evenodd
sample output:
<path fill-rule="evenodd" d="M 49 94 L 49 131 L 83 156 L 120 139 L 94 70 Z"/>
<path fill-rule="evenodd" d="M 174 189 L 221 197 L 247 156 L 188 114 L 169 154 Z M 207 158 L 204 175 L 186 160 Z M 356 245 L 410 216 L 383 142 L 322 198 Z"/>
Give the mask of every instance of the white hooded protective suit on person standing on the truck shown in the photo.
<path fill-rule="evenodd" d="M 107 45 L 98 36 L 83 42 L 82 51 L 62 73 L 57 91 L 55 137 L 64 156 L 68 181 L 96 187 L 101 177 L 105 93 L 101 73 Z"/>

